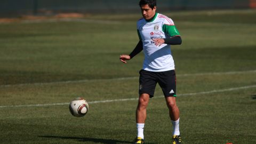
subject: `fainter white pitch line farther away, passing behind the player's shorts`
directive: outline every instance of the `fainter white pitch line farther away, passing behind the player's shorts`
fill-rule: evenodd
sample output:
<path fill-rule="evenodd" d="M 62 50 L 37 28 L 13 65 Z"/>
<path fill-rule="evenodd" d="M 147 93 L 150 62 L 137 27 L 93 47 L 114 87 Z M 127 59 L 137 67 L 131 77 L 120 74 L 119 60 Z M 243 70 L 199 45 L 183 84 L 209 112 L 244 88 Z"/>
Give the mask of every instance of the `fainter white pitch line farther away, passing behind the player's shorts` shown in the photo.
<path fill-rule="evenodd" d="M 182 76 L 204 76 L 204 75 L 234 75 L 234 74 L 246 74 L 246 73 L 256 73 L 256 70 L 248 71 L 228 71 L 228 72 L 216 72 L 216 73 L 197 73 L 197 74 L 178 74 L 177 77 Z M 51 85 L 51 84 L 69 84 L 69 83 L 85 83 L 85 82 L 97 82 L 97 81 L 122 81 L 125 79 L 136 79 L 139 77 L 119 77 L 119 78 L 106 78 L 106 79 L 82 79 L 77 81 L 60 81 L 60 82 L 46 82 L 46 83 L 25 83 L 25 84 L 8 84 L 0 85 L 0 87 L 10 87 L 10 86 L 26 86 L 26 85 Z"/>

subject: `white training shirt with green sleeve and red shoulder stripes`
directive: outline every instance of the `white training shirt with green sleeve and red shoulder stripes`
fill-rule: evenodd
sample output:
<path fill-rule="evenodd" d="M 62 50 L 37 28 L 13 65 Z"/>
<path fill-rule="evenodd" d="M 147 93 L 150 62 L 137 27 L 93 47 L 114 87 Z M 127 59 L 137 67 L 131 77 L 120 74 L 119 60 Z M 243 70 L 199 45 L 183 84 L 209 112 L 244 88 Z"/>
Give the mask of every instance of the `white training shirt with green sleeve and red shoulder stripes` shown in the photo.
<path fill-rule="evenodd" d="M 151 21 L 141 18 L 137 21 L 137 31 L 143 43 L 143 53 L 145 54 L 142 69 L 148 71 L 175 69 L 171 46 L 167 44 L 155 46 L 152 40 L 152 38 L 169 38 L 180 35 L 172 19 L 159 13 L 156 13 Z"/>

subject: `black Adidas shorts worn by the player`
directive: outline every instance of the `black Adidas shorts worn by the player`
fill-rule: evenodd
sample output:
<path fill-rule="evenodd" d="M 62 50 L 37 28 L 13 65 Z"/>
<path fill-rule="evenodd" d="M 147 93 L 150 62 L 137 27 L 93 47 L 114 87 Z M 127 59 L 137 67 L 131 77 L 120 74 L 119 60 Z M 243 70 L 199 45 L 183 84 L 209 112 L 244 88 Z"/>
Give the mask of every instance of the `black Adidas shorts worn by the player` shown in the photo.
<path fill-rule="evenodd" d="M 150 98 L 154 97 L 157 83 L 162 88 L 164 97 L 176 97 L 176 75 L 174 70 L 161 72 L 140 70 L 139 94 L 147 93 Z"/>

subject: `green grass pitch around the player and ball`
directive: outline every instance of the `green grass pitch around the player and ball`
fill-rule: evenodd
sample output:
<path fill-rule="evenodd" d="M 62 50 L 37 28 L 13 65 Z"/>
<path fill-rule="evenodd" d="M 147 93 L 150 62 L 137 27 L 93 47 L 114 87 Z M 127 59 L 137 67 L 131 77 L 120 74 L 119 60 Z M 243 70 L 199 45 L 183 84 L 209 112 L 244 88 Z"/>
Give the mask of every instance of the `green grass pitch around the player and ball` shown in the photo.
<path fill-rule="evenodd" d="M 256 11 L 163 13 L 172 46 L 183 143 L 256 143 Z M 143 54 L 140 14 L 0 23 L 0 143 L 131 143 Z M 76 118 L 68 103 L 89 101 Z M 146 143 L 171 143 L 159 86 L 150 99 Z"/>

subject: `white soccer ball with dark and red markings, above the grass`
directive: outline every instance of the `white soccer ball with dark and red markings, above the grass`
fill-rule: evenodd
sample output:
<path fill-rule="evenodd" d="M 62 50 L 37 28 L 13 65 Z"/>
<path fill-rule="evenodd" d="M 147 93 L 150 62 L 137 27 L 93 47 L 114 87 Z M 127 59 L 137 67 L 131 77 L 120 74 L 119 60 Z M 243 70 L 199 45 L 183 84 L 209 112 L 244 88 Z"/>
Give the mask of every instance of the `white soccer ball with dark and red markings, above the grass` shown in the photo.
<path fill-rule="evenodd" d="M 69 111 L 75 117 L 82 117 L 87 114 L 89 105 L 83 98 L 75 98 L 69 103 Z"/>

